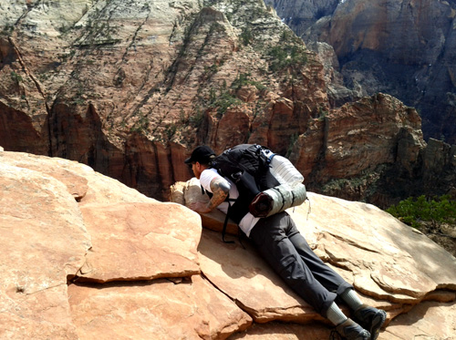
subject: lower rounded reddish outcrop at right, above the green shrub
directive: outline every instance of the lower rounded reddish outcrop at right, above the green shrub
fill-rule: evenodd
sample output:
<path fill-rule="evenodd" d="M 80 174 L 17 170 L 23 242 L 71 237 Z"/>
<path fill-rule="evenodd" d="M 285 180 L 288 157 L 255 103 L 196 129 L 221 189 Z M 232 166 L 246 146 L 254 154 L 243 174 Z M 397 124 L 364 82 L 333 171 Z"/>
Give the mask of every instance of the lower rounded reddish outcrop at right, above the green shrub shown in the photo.
<path fill-rule="evenodd" d="M 441 141 L 424 142 L 414 108 L 380 93 L 314 119 L 290 160 L 310 190 L 385 208 L 406 187 L 409 195 L 452 194 L 453 153 Z"/>

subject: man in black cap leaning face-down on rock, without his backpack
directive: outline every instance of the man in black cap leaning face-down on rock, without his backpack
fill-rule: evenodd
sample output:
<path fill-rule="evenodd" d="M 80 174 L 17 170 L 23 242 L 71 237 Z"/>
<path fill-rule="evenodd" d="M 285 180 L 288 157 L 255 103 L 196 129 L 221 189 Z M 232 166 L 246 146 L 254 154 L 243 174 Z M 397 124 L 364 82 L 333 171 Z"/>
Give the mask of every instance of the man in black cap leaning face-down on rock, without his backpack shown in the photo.
<path fill-rule="evenodd" d="M 192 166 L 202 188 L 212 193 L 211 200 L 207 203 L 192 203 L 190 208 L 193 211 L 206 213 L 218 208 L 227 213 L 227 197 L 239 197 L 233 181 L 211 168 L 214 157 L 215 153 L 211 148 L 199 146 L 192 151 L 191 157 L 185 160 L 186 164 Z M 319 314 L 336 325 L 338 334 L 347 339 L 377 339 L 380 327 L 386 320 L 385 311 L 360 301 L 353 286 L 323 263 L 310 249 L 288 213 L 282 211 L 265 218 L 255 218 L 251 213 L 247 213 L 239 222 L 239 227 L 285 283 Z M 342 313 L 335 303 L 337 296 L 353 311 L 353 319 L 358 324 Z"/>

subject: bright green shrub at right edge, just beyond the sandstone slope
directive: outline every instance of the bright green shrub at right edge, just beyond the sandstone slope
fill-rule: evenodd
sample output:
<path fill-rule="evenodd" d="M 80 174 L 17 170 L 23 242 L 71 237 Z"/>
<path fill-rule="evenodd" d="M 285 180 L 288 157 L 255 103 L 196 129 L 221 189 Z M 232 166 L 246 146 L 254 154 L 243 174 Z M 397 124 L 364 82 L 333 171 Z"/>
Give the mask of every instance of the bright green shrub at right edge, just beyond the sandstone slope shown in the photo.
<path fill-rule="evenodd" d="M 427 199 L 424 195 L 417 199 L 409 197 L 387 211 L 414 228 L 420 228 L 423 223 L 430 223 L 433 227 L 441 223 L 456 223 L 456 201 L 448 195 L 434 199 Z"/>

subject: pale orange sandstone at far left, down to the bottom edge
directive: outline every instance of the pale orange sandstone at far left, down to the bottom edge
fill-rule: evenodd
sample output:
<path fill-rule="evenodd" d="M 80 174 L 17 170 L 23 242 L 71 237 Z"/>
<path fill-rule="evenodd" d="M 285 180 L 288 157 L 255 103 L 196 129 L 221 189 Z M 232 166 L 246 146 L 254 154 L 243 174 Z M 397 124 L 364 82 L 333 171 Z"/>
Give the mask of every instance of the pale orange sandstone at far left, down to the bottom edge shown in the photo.
<path fill-rule="evenodd" d="M 0 162 L 0 337 L 75 339 L 67 279 L 90 237 L 59 180 Z"/>

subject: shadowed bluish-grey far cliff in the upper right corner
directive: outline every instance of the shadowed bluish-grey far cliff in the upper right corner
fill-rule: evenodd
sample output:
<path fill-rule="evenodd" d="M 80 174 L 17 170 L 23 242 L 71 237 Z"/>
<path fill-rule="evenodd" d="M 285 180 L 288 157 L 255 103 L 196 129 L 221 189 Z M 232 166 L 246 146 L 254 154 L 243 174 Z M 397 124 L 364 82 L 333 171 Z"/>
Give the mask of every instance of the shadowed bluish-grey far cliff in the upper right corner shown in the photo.
<path fill-rule="evenodd" d="M 456 143 L 453 2 L 266 3 L 306 42 L 334 47 L 348 88 L 399 98 L 419 109 L 426 139 Z"/>

